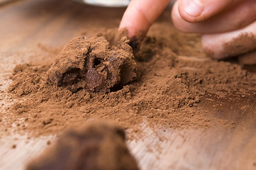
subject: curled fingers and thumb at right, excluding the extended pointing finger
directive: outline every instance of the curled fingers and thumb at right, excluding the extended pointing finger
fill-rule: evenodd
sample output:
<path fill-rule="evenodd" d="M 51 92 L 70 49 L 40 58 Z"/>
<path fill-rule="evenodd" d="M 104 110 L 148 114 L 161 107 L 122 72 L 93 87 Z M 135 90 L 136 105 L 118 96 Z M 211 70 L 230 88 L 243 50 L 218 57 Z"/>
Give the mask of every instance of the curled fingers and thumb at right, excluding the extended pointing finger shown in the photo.
<path fill-rule="evenodd" d="M 256 64 L 255 20 L 255 0 L 179 0 L 172 9 L 174 26 L 201 33 L 209 57 L 240 55 L 244 64 Z"/>

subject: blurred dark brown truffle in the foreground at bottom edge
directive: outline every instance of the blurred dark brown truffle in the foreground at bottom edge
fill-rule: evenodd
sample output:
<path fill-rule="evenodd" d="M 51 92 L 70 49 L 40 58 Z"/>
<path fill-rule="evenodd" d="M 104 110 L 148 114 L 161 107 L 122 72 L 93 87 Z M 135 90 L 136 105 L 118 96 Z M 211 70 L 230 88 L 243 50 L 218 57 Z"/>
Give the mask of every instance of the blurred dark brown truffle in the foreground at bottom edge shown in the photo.
<path fill-rule="evenodd" d="M 125 132 L 115 125 L 94 123 L 65 132 L 26 170 L 136 170 Z"/>

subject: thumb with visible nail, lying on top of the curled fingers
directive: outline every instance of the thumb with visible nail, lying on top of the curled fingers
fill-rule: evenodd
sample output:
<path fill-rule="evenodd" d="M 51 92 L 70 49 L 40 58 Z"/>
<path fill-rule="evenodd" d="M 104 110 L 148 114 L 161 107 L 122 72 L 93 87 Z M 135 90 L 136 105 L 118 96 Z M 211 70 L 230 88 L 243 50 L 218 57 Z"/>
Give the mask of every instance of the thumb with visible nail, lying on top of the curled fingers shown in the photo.
<path fill-rule="evenodd" d="M 204 21 L 243 0 L 179 0 L 179 15 L 190 23 Z"/>

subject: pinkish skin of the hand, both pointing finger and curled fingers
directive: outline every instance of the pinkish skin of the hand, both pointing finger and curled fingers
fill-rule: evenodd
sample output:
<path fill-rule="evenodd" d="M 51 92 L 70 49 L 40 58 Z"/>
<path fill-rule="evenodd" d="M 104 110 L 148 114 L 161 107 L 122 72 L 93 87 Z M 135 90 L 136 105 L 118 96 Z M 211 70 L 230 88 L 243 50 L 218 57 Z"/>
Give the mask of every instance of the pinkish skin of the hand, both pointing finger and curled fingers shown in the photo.
<path fill-rule="evenodd" d="M 130 37 L 140 30 L 148 32 L 168 3 L 169 0 L 132 0 L 119 29 L 127 28 Z M 172 22 L 185 33 L 201 33 L 204 50 L 211 49 L 211 57 L 223 59 L 230 56 L 223 52 L 224 44 L 244 33 L 256 38 L 256 0 L 177 0 Z M 250 45 L 245 43 L 247 46 Z M 256 49 L 248 51 L 252 53 L 243 54 L 241 61 L 256 64 L 256 55 L 252 55 Z"/>

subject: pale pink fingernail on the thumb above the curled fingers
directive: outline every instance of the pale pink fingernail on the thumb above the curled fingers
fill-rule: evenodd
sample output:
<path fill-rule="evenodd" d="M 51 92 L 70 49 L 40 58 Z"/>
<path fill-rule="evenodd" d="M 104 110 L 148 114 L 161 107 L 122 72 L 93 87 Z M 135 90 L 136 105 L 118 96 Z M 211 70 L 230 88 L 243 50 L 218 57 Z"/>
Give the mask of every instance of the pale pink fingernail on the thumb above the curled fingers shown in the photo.
<path fill-rule="evenodd" d="M 181 1 L 182 8 L 189 16 L 200 16 L 204 10 L 204 5 L 199 0 Z"/>

